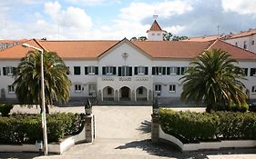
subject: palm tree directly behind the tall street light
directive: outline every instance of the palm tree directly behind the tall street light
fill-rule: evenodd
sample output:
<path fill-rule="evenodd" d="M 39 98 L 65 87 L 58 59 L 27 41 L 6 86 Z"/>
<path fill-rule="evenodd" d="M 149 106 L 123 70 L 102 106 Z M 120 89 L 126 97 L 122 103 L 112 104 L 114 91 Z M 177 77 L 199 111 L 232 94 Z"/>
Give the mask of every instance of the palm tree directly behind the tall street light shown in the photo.
<path fill-rule="evenodd" d="M 41 104 L 40 64 L 40 53 L 30 51 L 21 59 L 21 63 L 15 69 L 15 94 L 20 104 Z M 46 113 L 49 113 L 48 104 L 53 104 L 54 100 L 68 101 L 71 83 L 67 78 L 67 66 L 56 53 L 45 52 L 43 65 Z"/>

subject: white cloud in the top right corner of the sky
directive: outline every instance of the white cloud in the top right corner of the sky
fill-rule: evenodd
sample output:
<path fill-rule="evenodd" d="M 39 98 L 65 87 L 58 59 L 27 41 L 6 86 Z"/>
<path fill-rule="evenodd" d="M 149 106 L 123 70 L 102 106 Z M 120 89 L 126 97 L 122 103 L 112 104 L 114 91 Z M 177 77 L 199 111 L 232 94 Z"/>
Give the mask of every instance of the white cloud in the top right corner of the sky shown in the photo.
<path fill-rule="evenodd" d="M 222 0 L 221 5 L 225 12 L 256 15 L 256 0 Z"/>

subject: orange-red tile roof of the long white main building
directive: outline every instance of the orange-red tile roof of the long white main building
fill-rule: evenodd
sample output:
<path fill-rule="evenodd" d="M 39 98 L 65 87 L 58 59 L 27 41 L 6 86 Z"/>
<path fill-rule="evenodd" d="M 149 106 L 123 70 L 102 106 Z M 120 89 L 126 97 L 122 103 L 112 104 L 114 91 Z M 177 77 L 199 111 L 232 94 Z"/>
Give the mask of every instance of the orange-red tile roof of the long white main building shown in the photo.
<path fill-rule="evenodd" d="M 230 45 L 220 40 L 210 42 L 184 42 L 184 41 L 128 41 L 138 49 L 153 58 L 190 59 L 202 53 L 204 50 L 220 48 L 230 53 L 232 58 L 244 60 L 256 60 L 256 55 L 239 47 Z M 56 52 L 62 58 L 97 58 L 105 54 L 110 48 L 120 44 L 120 41 L 37 41 L 29 40 L 26 43 L 36 47 L 44 47 L 48 51 Z M 0 51 L 0 59 L 20 59 L 32 50 L 22 45 L 15 45 L 4 51 Z"/>

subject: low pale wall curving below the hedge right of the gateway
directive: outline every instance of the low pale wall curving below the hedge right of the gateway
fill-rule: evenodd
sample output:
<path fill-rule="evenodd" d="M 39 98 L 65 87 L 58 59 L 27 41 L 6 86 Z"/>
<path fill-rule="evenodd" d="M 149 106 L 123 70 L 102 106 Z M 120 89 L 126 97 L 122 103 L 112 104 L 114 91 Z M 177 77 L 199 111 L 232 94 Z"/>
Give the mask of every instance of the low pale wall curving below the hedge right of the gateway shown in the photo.
<path fill-rule="evenodd" d="M 181 151 L 197 151 L 206 149 L 235 148 L 235 147 L 254 147 L 256 140 L 225 140 L 220 142 L 202 142 L 199 144 L 183 144 L 173 135 L 166 134 L 159 126 L 159 139 L 164 139 L 172 144 L 179 146 Z"/>

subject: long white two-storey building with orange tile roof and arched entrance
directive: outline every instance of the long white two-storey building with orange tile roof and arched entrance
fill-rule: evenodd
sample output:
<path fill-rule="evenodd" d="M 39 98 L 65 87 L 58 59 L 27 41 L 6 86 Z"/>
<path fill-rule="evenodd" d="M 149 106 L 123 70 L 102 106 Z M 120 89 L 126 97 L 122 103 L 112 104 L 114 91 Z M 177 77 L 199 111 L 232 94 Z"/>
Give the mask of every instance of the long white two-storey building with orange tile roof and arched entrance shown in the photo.
<path fill-rule="evenodd" d="M 150 34 L 150 32 L 148 32 Z M 30 40 L 29 45 L 60 55 L 70 69 L 71 98 L 97 97 L 98 101 L 179 100 L 179 78 L 192 58 L 204 50 L 228 51 L 245 68 L 244 81 L 251 99 L 256 99 L 256 55 L 220 40 L 180 41 L 46 41 Z M 1 99 L 15 98 L 13 70 L 31 50 L 15 45 L 0 52 Z"/>

